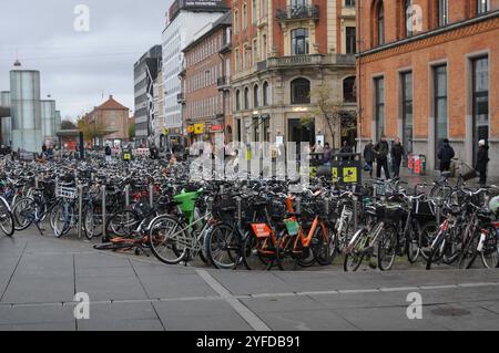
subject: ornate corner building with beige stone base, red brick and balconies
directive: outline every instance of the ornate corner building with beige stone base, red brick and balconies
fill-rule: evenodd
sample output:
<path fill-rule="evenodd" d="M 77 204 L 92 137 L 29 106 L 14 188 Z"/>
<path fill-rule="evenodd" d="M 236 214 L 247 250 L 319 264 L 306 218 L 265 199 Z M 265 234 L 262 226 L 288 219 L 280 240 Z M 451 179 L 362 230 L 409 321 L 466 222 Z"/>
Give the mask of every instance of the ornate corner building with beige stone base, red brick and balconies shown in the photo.
<path fill-rule="evenodd" d="M 234 139 L 355 143 L 355 1 L 237 0 L 232 13 Z M 317 113 L 318 86 L 350 128 Z"/>

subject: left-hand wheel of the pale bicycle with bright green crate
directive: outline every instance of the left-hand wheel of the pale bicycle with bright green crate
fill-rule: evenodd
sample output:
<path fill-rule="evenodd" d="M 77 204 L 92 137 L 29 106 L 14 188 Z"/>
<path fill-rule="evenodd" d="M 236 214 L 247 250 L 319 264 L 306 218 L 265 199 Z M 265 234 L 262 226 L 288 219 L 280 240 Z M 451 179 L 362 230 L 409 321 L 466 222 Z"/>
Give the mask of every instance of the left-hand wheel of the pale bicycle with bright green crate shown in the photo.
<path fill-rule="evenodd" d="M 192 241 L 189 230 L 172 216 L 161 216 L 150 226 L 149 246 L 152 253 L 166 264 L 179 264 L 187 256 Z"/>

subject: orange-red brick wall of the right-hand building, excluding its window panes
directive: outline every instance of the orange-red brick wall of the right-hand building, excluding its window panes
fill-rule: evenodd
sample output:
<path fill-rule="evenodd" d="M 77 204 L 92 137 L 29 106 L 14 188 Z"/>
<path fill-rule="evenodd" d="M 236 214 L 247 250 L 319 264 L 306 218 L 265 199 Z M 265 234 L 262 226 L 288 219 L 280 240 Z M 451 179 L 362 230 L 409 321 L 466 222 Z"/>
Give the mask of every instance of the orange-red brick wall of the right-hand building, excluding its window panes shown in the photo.
<path fill-rule="evenodd" d="M 472 164 L 473 104 L 472 62 L 488 59 L 488 141 L 492 152 L 499 146 L 499 0 L 490 0 L 487 12 L 477 14 L 476 1 L 448 1 L 448 23 L 439 25 L 438 0 L 414 0 L 420 11 L 421 31 L 406 35 L 405 1 L 385 0 L 385 44 L 378 42 L 379 0 L 361 1 L 357 28 L 361 38 L 361 55 L 357 72 L 358 105 L 361 108 L 363 139 L 376 138 L 375 79 L 384 77 L 384 126 L 389 138 L 403 137 L 401 74 L 413 73 L 413 139 L 414 152 L 428 157 L 428 167 L 436 167 L 435 154 L 438 137 L 434 127 L 435 71 L 437 65 L 447 68 L 447 137 L 459 158 Z M 415 12 L 416 13 L 416 12 Z M 493 159 L 493 158 L 491 158 Z M 491 170 L 499 174 L 499 164 L 491 162 Z"/>

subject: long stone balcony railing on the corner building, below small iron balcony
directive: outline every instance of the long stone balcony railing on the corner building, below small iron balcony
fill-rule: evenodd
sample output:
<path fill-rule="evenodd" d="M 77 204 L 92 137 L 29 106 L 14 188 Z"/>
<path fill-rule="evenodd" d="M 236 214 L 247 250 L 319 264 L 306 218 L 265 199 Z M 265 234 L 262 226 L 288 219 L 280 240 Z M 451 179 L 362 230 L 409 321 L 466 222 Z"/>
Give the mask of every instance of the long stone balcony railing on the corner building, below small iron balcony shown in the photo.
<path fill-rule="evenodd" d="M 314 65 L 353 65 L 354 54 L 309 54 L 268 58 L 267 68 L 314 66 Z"/>

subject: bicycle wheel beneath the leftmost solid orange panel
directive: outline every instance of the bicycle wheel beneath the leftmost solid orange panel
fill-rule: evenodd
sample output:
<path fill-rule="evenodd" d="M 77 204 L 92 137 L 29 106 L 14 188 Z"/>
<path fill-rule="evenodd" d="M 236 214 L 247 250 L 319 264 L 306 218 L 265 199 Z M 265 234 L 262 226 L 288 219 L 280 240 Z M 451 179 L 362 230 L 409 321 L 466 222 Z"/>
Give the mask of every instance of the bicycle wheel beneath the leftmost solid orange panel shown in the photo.
<path fill-rule="evenodd" d="M 243 242 L 243 263 L 249 271 L 269 270 L 275 262 L 275 250 L 268 249 L 269 238 L 257 238 L 248 232 Z"/>

